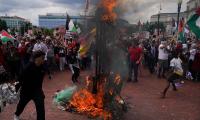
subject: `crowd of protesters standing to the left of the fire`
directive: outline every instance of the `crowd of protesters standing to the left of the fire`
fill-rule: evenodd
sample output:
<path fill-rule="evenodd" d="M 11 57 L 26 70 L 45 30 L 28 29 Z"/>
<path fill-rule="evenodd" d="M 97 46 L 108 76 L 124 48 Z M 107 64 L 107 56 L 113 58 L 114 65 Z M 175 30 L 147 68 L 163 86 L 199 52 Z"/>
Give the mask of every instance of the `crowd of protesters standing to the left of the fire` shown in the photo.
<path fill-rule="evenodd" d="M 80 58 L 79 48 L 79 42 L 73 37 L 65 39 L 65 44 L 59 39 L 43 35 L 21 37 L 6 44 L 0 41 L 1 82 L 16 81 L 20 71 L 37 51 L 45 53 L 45 68 L 49 79 L 52 79 L 56 71 L 70 69 L 73 73 L 72 81 L 77 82 L 80 68 L 86 68 L 84 65 L 89 64 L 89 60 Z"/>

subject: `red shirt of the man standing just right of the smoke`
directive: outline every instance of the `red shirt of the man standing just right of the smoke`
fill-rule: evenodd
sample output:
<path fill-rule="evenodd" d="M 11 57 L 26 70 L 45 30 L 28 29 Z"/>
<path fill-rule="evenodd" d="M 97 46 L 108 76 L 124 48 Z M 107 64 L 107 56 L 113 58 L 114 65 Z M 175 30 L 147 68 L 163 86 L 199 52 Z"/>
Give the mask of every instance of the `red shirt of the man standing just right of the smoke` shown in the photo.
<path fill-rule="evenodd" d="M 142 54 L 142 48 L 139 47 L 130 47 L 129 48 L 130 60 L 131 61 L 138 61 Z"/>

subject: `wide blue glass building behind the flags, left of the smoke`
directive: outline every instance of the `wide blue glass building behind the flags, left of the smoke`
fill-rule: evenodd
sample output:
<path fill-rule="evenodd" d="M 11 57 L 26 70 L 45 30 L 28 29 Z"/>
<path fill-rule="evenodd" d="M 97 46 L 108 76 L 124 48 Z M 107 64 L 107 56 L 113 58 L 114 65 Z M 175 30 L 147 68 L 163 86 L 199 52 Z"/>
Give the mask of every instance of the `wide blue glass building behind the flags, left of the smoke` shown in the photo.
<path fill-rule="evenodd" d="M 66 14 L 64 13 L 47 13 L 46 15 L 39 15 L 39 27 L 43 28 L 57 28 L 66 25 Z M 83 22 L 85 16 L 70 16 L 70 19 L 76 22 Z"/>

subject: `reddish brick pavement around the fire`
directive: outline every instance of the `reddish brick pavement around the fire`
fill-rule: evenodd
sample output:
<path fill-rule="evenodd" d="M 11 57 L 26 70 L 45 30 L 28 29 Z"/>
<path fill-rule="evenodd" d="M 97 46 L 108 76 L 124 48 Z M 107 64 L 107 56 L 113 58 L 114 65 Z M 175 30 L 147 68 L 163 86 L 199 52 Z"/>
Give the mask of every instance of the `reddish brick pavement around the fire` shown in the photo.
<path fill-rule="evenodd" d="M 82 71 L 80 80 L 89 75 L 89 71 Z M 57 72 L 53 79 L 45 77 L 45 109 L 46 120 L 89 120 L 84 115 L 58 110 L 52 103 L 57 90 L 71 86 L 70 71 Z M 138 83 L 127 83 L 124 80 L 122 96 L 128 104 L 128 112 L 124 120 L 200 120 L 200 83 L 185 81 L 178 87 L 178 91 L 168 91 L 166 99 L 160 98 L 166 80 L 157 79 L 148 71 L 142 70 Z M 30 93 L 31 94 L 31 93 Z M 8 105 L 0 120 L 13 120 L 16 105 Z M 30 102 L 21 115 L 22 120 L 36 120 L 35 106 Z"/>

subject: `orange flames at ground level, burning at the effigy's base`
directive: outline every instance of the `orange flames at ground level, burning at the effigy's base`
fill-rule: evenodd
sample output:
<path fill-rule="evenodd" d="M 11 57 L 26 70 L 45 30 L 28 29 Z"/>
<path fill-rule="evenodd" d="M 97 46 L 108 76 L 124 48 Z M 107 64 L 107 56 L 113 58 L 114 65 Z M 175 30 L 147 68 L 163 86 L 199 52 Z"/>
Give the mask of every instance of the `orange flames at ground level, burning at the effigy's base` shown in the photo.
<path fill-rule="evenodd" d="M 106 88 L 107 78 L 102 77 L 98 84 L 98 93 L 92 94 L 91 85 L 92 77 L 86 77 L 86 86 L 85 88 L 77 91 L 69 101 L 69 107 L 74 109 L 80 114 L 85 114 L 89 117 L 96 118 L 100 117 L 104 120 L 112 120 L 111 111 L 105 109 L 105 93 L 106 91 L 110 96 L 114 96 L 114 100 L 119 104 L 123 104 L 123 100 L 120 95 L 116 92 L 115 87 L 120 85 L 121 77 L 116 74 L 113 80 L 114 85 L 111 88 Z"/>

